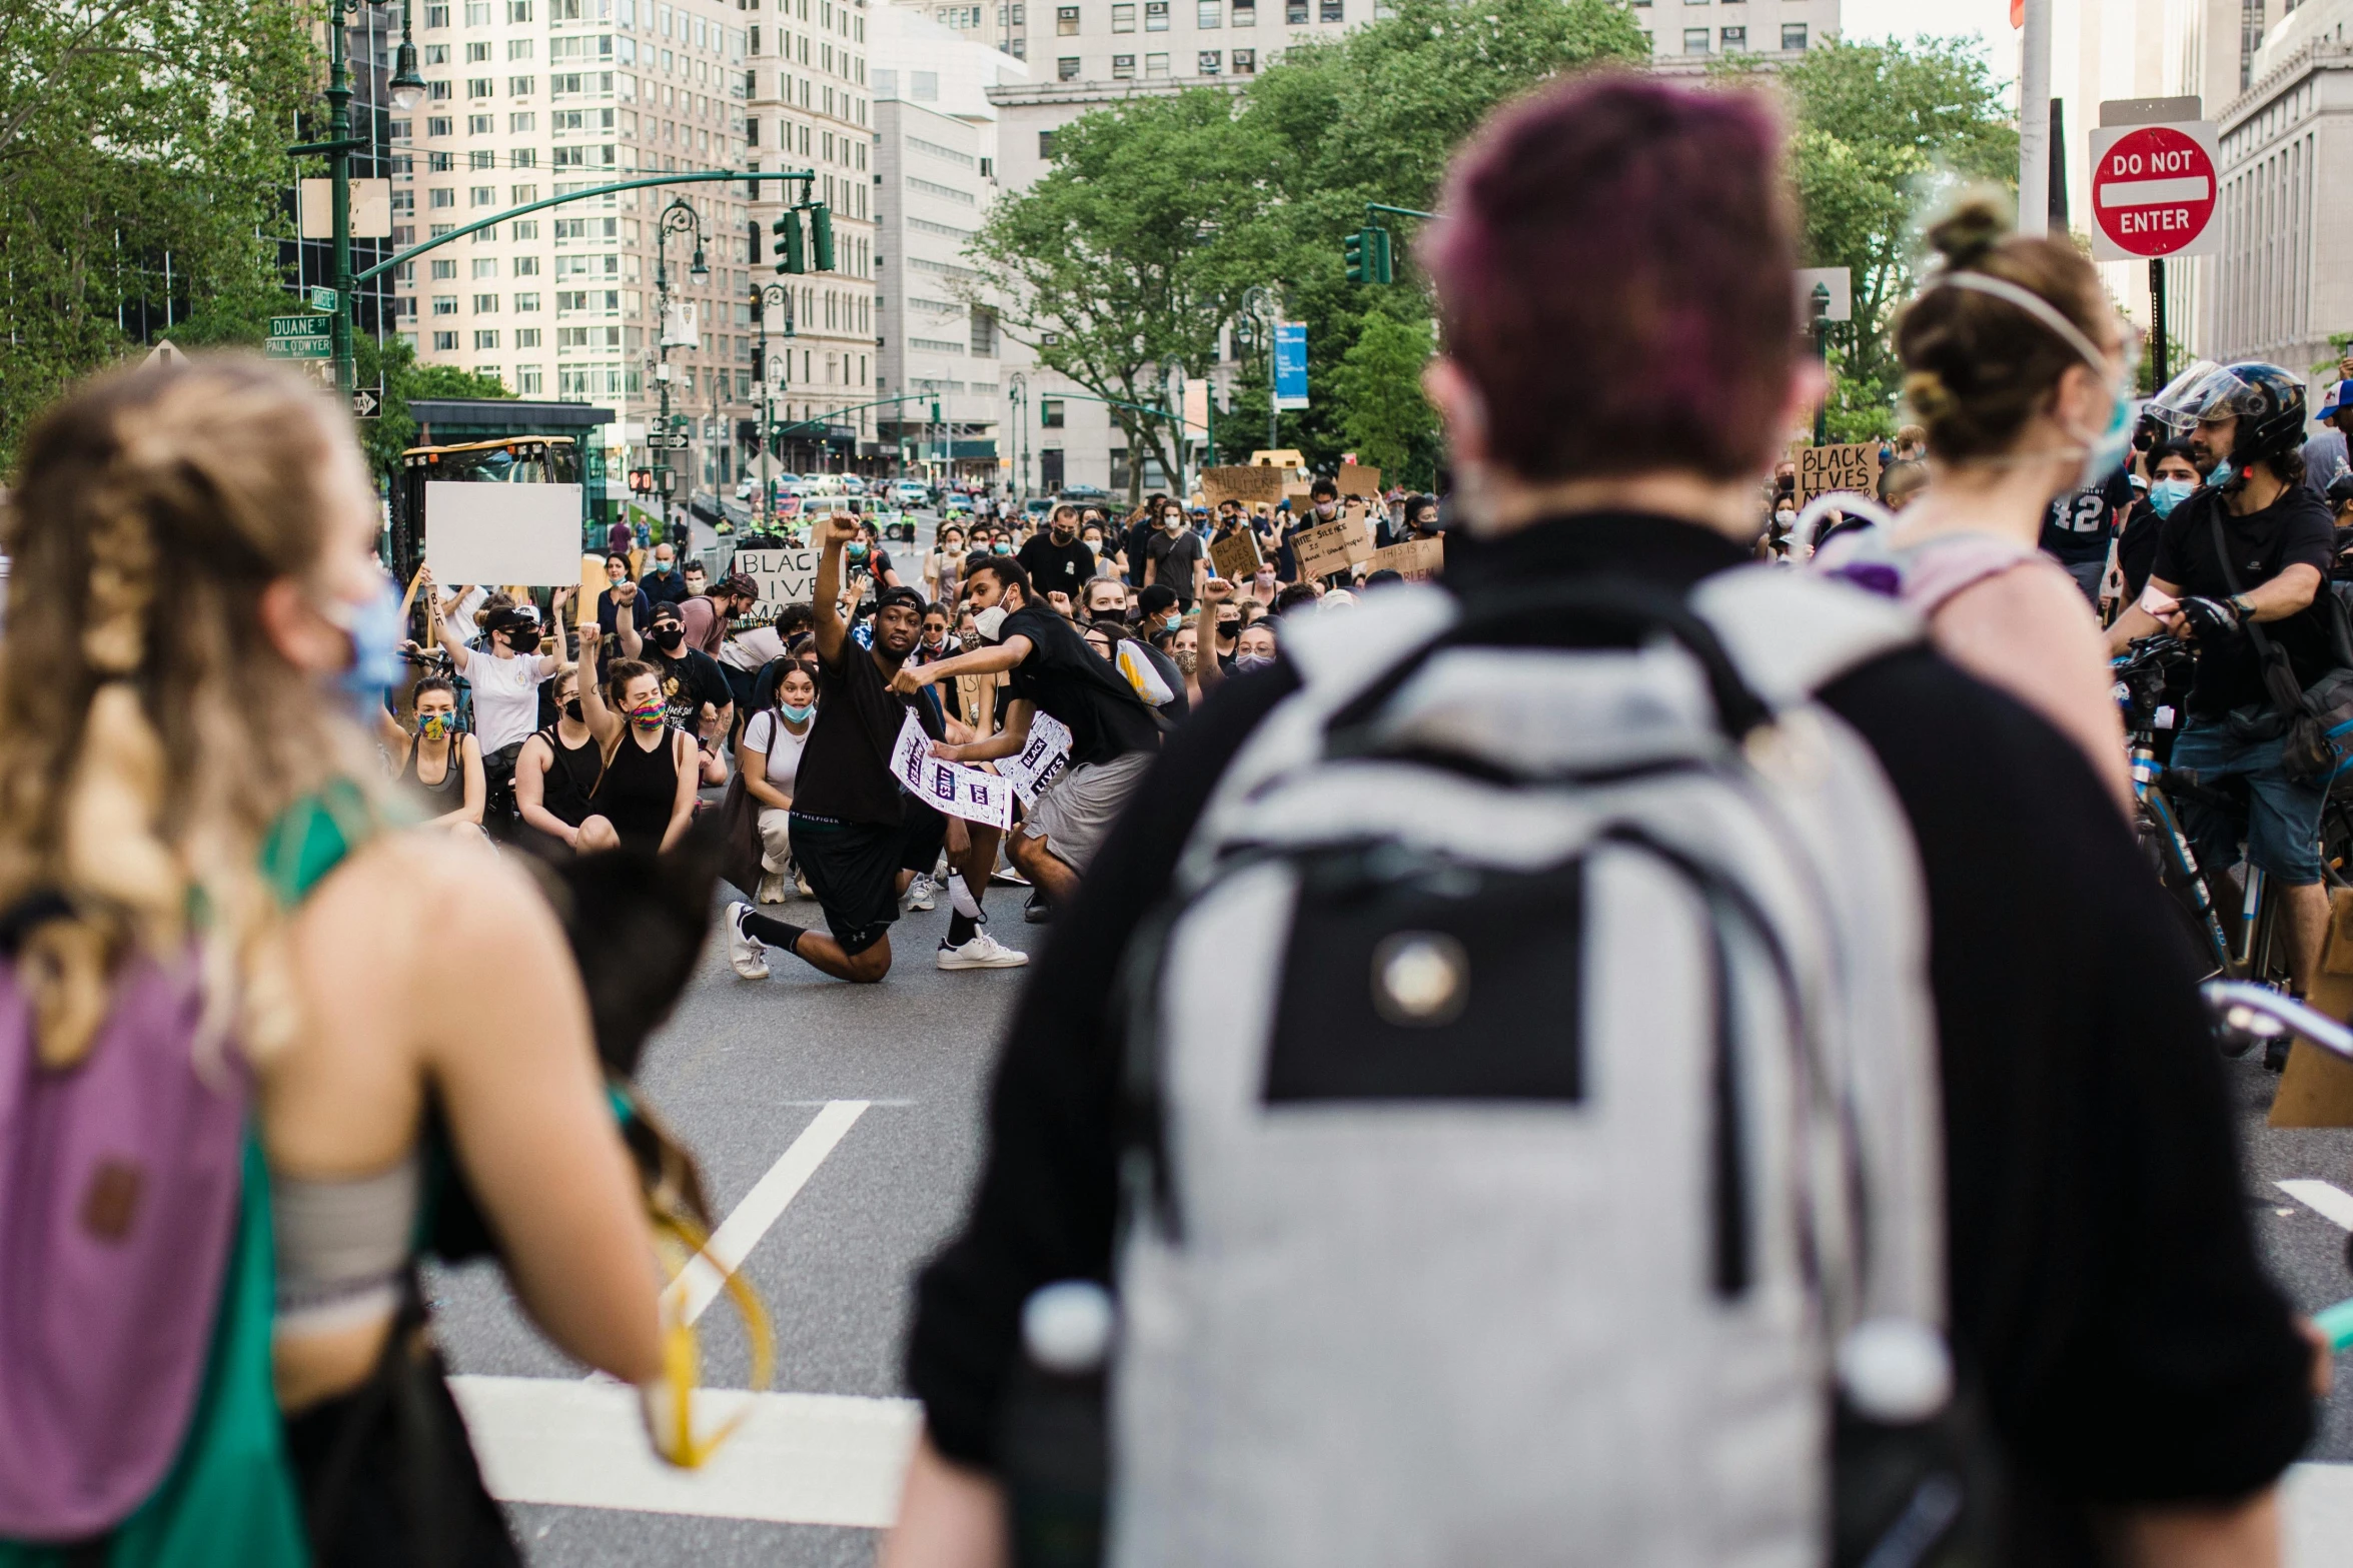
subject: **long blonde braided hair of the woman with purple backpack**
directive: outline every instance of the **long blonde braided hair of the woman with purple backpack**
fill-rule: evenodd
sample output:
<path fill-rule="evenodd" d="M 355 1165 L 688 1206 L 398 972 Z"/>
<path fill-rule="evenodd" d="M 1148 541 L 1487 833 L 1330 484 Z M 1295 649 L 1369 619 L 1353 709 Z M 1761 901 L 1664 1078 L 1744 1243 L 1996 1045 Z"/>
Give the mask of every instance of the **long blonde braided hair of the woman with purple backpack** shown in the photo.
<path fill-rule="evenodd" d="M 111 978 L 195 943 L 207 1018 L 249 1060 L 294 1030 L 259 846 L 358 729 L 268 642 L 254 602 L 320 562 L 346 437 L 261 360 L 96 376 L 26 437 L 0 512 L 0 907 L 59 896 L 19 950 L 40 1060 L 78 1063 Z"/>

